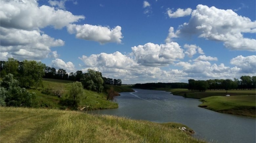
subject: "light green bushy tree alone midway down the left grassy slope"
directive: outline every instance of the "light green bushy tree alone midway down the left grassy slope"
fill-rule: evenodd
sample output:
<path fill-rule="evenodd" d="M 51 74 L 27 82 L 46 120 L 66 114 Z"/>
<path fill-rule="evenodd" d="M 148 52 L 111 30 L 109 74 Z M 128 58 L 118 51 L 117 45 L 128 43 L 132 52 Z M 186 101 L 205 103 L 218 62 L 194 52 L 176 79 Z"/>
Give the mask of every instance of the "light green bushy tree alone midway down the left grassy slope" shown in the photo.
<path fill-rule="evenodd" d="M 78 106 L 84 96 L 84 88 L 81 82 L 72 82 L 69 83 L 71 89 L 69 90 L 69 99 L 71 99 L 73 106 Z"/>

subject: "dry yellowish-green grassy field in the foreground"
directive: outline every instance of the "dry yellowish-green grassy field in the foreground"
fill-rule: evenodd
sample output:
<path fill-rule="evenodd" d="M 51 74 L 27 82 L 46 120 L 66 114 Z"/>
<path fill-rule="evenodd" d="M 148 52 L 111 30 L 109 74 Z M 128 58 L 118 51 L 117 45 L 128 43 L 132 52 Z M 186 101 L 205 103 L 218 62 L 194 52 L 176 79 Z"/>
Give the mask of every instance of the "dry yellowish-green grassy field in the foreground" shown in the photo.
<path fill-rule="evenodd" d="M 206 143 L 149 121 L 54 109 L 0 110 L 1 143 Z"/>

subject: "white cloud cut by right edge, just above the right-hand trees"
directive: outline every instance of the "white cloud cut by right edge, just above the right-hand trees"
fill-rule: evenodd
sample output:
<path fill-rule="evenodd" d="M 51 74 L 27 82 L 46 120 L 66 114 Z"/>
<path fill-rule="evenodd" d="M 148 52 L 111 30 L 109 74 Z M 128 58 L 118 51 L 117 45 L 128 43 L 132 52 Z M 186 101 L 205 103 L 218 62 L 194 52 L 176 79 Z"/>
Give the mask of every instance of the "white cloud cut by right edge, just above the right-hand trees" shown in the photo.
<path fill-rule="evenodd" d="M 242 55 L 237 56 L 230 60 L 230 64 L 241 68 L 242 73 L 254 73 L 256 72 L 256 56 L 243 57 Z"/>

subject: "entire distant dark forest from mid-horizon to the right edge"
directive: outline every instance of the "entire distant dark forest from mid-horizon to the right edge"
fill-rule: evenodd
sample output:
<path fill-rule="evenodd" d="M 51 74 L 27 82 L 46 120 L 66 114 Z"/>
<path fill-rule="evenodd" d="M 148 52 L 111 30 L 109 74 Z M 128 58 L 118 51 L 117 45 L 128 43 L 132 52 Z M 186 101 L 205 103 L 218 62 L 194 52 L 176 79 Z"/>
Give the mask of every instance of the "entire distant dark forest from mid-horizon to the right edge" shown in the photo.
<path fill-rule="evenodd" d="M 256 89 L 256 76 L 241 76 L 240 79 L 210 79 L 210 80 L 194 80 L 189 79 L 188 83 L 137 83 L 133 88 L 140 89 L 157 89 L 157 88 L 186 88 L 195 91 L 205 90 L 245 90 Z"/>

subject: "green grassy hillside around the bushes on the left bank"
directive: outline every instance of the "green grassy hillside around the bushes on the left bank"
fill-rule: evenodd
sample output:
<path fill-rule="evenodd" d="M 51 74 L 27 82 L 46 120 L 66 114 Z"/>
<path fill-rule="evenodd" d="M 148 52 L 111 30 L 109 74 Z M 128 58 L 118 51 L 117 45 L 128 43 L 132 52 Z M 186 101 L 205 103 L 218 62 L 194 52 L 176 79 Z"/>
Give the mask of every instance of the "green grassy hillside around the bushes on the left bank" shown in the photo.
<path fill-rule="evenodd" d="M 68 90 L 70 89 L 70 83 L 72 81 L 67 80 L 57 80 L 57 79 L 44 79 L 43 85 L 45 91 L 51 88 L 61 88 L 64 89 L 64 93 L 61 98 L 53 95 L 52 93 L 42 92 L 43 89 L 28 89 L 30 92 L 36 93 L 34 108 L 50 108 L 50 109 L 71 109 L 70 107 L 63 106 L 59 104 L 60 100 L 67 98 Z M 87 107 L 86 110 L 96 110 L 96 109 L 113 109 L 118 108 L 118 104 L 115 102 L 107 101 L 107 94 L 97 93 L 90 90 L 85 90 L 85 98 L 79 104 L 79 108 Z"/>

